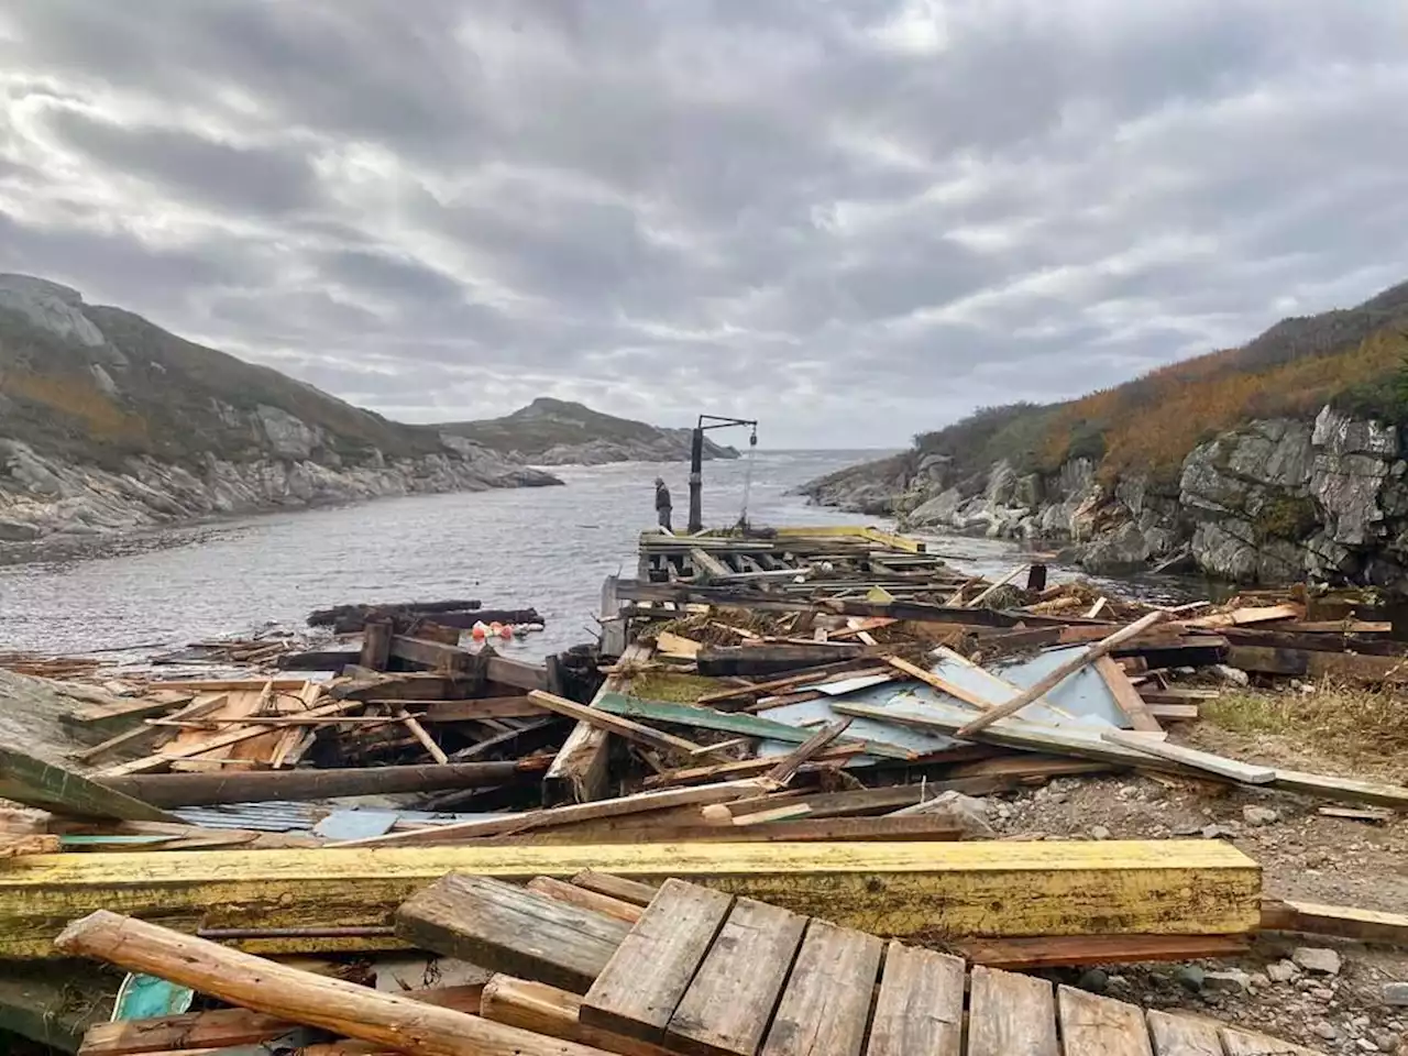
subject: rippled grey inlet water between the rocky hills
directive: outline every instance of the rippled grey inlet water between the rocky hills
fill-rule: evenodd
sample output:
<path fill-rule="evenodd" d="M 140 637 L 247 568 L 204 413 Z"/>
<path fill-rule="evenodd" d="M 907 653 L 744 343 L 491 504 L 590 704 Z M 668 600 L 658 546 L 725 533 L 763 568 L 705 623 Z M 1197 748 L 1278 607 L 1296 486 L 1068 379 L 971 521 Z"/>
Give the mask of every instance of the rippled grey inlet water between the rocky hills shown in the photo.
<path fill-rule="evenodd" d="M 877 524 L 808 507 L 787 493 L 873 452 L 759 452 L 749 517 L 758 525 Z M 636 539 L 655 520 L 655 476 L 687 517 L 687 467 L 563 466 L 566 487 L 384 498 L 146 532 L 92 556 L 0 567 L 0 650 L 77 653 L 183 645 L 301 627 L 318 607 L 474 597 L 534 607 L 543 634 L 510 646 L 538 656 L 594 638 L 601 580 L 635 574 Z M 704 466 L 704 521 L 738 520 L 745 463 Z M 949 545 L 950 543 L 950 545 Z M 1010 567 L 1012 548 L 950 539 L 963 567 Z"/>

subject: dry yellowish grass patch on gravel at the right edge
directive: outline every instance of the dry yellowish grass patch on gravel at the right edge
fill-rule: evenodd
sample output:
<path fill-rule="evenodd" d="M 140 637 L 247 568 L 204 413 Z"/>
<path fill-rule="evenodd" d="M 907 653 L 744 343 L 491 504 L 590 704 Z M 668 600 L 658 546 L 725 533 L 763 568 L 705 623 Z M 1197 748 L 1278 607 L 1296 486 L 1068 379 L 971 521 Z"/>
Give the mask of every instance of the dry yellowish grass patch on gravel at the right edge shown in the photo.
<path fill-rule="evenodd" d="M 1312 693 L 1238 690 L 1202 701 L 1204 719 L 1233 734 L 1284 736 L 1328 756 L 1408 750 L 1408 700 L 1390 690 L 1321 683 Z"/>

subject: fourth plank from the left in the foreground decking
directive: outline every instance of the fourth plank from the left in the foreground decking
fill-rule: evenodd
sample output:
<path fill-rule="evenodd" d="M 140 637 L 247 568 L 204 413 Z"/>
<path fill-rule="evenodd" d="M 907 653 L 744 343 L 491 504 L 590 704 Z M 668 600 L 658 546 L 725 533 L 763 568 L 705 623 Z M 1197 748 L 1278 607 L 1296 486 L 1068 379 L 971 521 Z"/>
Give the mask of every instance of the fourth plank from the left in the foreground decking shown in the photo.
<path fill-rule="evenodd" d="M 963 1045 L 963 962 L 891 942 L 866 1056 L 959 1056 Z"/>

